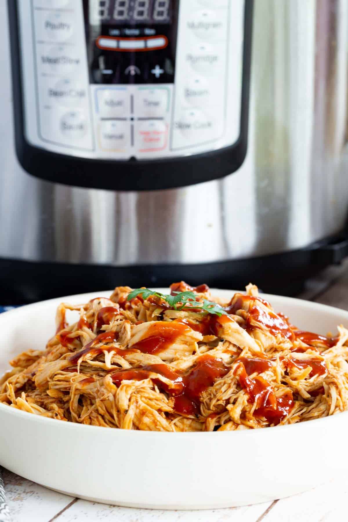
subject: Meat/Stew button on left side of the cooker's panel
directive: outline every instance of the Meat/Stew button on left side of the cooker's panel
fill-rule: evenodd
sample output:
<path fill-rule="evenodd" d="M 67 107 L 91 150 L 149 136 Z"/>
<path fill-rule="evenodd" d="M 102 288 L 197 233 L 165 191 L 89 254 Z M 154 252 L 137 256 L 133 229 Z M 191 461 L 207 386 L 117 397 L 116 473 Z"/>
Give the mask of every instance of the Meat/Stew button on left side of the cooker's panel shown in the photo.
<path fill-rule="evenodd" d="M 81 64 L 81 59 L 75 54 L 75 50 L 67 49 L 66 46 L 57 45 L 47 51 L 46 48 L 44 48 L 42 52 L 40 46 L 40 52 L 39 48 L 37 52 L 40 69 L 47 70 L 48 68 L 57 74 L 71 73 Z"/>

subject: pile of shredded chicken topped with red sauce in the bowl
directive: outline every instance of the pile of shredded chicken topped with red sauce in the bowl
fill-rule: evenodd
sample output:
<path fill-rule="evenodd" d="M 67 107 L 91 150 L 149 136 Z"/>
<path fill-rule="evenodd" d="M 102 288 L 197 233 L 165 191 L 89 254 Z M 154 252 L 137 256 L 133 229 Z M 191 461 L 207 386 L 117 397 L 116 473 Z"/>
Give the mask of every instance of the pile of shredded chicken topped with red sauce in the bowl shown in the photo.
<path fill-rule="evenodd" d="M 131 288 L 117 287 L 110 299 L 62 303 L 46 348 L 10 362 L 0 402 L 68 422 L 156 431 L 262 428 L 348 409 L 346 328 L 334 337 L 299 330 L 252 284 L 229 302 L 206 285 L 181 281 L 171 291 L 192 291 L 195 301 L 129 301 Z M 200 309 L 205 300 L 214 313 Z M 67 310 L 76 323 L 66 323 Z"/>

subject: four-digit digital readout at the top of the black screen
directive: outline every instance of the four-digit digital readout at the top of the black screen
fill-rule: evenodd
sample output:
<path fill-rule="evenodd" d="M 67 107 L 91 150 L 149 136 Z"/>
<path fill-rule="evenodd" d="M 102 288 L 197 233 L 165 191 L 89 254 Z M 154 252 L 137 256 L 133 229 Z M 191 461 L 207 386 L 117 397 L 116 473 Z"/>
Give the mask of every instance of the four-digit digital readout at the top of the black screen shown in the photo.
<path fill-rule="evenodd" d="M 90 18 L 94 23 L 135 25 L 170 23 L 173 0 L 94 0 Z"/>

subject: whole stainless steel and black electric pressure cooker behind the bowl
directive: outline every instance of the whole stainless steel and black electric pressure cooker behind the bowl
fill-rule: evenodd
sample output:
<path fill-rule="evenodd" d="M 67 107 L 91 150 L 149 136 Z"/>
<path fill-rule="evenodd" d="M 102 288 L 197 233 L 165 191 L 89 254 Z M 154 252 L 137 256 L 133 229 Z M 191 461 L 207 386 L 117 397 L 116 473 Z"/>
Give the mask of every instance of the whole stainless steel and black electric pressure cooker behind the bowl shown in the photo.
<path fill-rule="evenodd" d="M 345 0 L 0 5 L 3 303 L 348 255 Z"/>

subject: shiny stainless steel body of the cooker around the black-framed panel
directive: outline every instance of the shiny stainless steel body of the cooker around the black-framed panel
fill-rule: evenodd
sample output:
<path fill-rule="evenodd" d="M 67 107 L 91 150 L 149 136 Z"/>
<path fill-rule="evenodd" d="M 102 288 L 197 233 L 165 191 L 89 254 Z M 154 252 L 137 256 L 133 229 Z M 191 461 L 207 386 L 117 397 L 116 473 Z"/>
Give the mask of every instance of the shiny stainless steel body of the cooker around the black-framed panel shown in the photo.
<path fill-rule="evenodd" d="M 236 260 L 298 251 L 344 230 L 345 0 L 255 2 L 245 161 L 222 180 L 163 191 L 137 192 L 136 179 L 130 192 L 71 187 L 20 167 L 5 2 L 0 20 L 3 260 L 151 274 L 175 266 L 185 277 L 190 265 L 226 262 L 233 272 Z"/>

